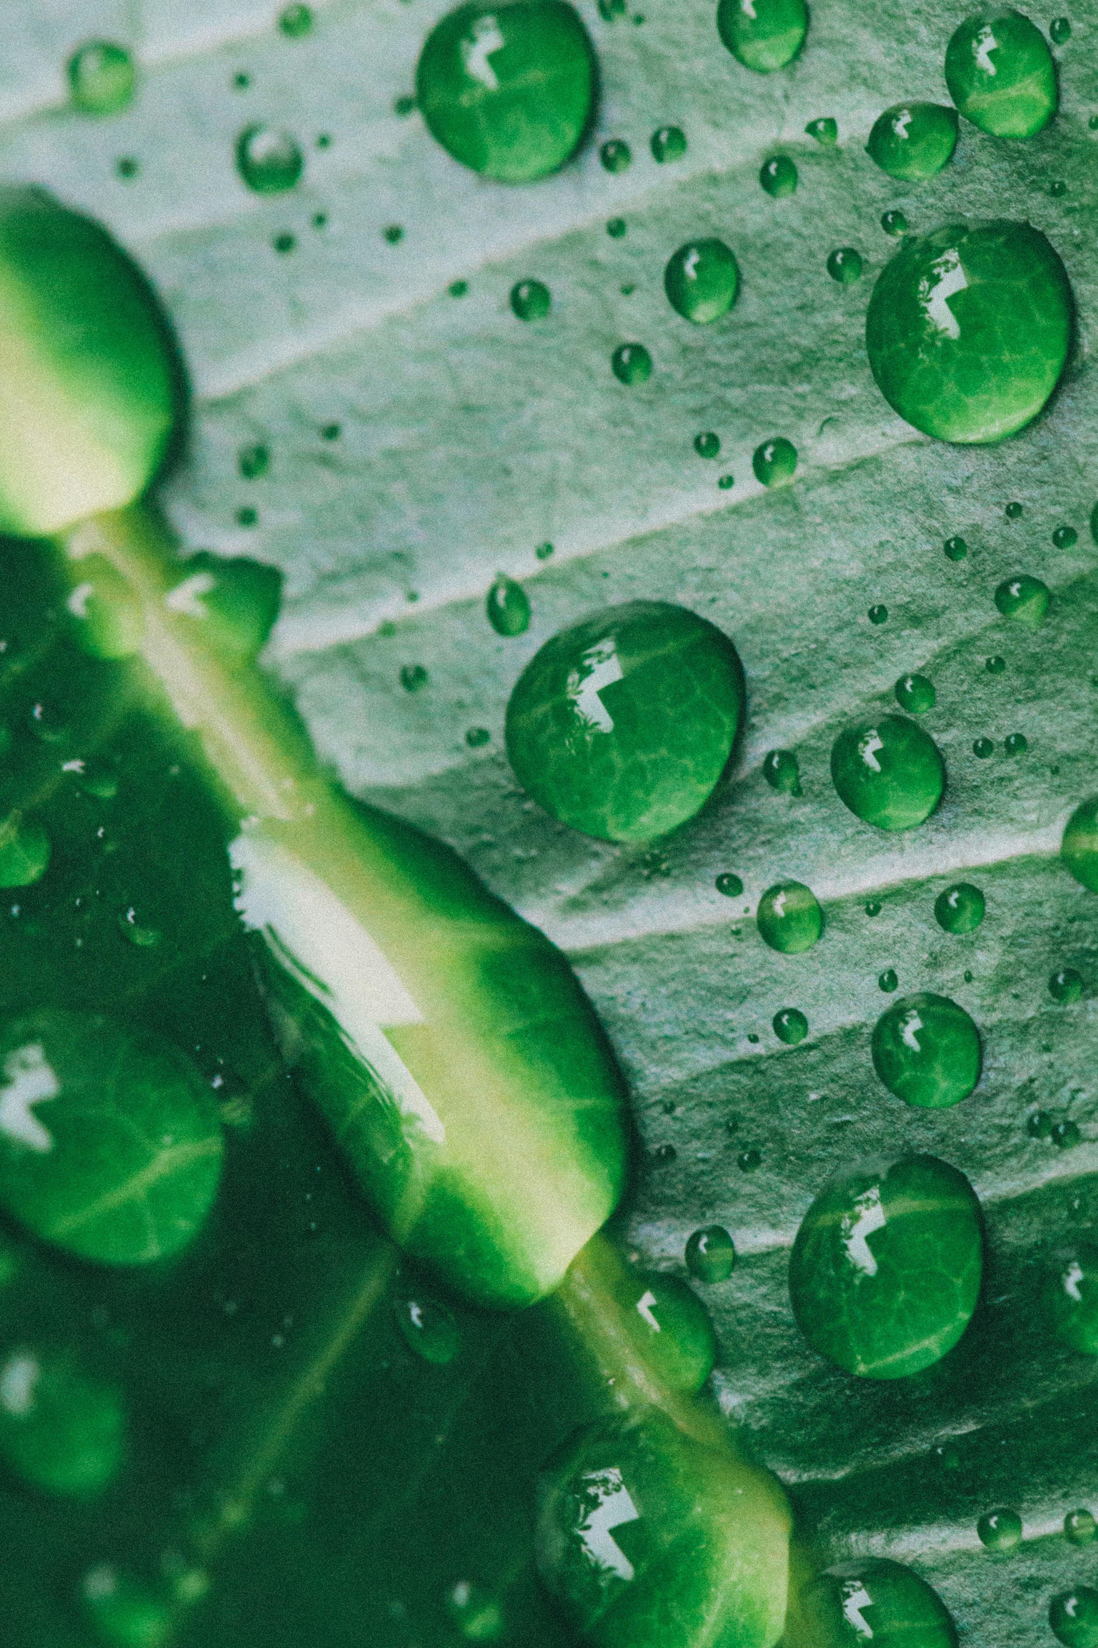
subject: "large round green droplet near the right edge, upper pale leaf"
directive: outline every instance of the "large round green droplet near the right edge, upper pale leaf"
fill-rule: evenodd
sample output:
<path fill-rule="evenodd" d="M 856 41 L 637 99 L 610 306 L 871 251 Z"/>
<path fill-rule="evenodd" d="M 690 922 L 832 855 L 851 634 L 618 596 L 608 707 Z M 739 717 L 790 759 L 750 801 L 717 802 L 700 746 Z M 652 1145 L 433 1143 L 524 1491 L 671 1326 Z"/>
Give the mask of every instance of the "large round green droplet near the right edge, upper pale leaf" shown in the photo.
<path fill-rule="evenodd" d="M 1027 222 L 953 219 L 905 239 L 866 315 L 884 399 L 924 435 L 961 443 L 1029 424 L 1057 386 L 1070 338 L 1067 270 Z"/>

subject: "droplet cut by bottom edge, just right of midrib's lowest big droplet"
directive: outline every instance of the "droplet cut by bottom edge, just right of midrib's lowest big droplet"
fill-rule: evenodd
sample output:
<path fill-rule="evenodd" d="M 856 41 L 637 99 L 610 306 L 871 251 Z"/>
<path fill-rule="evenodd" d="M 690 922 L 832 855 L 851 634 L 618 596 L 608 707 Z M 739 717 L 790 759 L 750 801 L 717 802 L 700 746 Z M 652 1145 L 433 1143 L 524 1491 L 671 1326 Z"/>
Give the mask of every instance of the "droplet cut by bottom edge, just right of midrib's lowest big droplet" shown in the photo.
<path fill-rule="evenodd" d="M 889 1557 L 828 1567 L 807 1589 L 803 1612 L 812 1648 L 956 1648 L 937 1590 Z"/>

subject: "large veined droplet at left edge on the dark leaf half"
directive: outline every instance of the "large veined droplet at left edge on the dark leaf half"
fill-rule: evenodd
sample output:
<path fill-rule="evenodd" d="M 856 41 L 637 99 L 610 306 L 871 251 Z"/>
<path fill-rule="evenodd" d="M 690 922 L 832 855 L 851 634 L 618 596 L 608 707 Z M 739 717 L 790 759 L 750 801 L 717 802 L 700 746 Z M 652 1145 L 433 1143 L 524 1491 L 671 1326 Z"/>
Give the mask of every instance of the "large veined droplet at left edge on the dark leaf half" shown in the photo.
<path fill-rule="evenodd" d="M 206 1223 L 224 1139 L 214 1096 L 171 1043 L 95 1014 L 0 1028 L 0 1205 L 99 1264 L 148 1264 Z"/>

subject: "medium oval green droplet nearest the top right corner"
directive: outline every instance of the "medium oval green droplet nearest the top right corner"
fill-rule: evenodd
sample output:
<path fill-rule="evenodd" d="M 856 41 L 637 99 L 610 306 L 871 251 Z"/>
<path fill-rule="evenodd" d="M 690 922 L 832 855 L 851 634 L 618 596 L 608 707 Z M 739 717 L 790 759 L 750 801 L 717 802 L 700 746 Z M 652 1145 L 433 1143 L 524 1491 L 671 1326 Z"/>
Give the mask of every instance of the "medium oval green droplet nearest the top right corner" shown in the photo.
<path fill-rule="evenodd" d="M 1057 109 L 1049 44 L 1027 16 L 1006 7 L 966 16 L 945 51 L 950 97 L 991 137 L 1034 137 Z"/>

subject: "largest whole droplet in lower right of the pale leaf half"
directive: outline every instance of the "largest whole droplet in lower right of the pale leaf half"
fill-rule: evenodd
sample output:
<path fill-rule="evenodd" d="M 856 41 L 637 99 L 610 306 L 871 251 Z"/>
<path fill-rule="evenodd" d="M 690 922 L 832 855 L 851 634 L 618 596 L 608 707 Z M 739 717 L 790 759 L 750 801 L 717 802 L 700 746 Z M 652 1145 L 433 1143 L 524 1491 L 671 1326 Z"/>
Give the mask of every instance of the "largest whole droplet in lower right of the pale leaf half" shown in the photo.
<path fill-rule="evenodd" d="M 979 1203 L 933 1155 L 854 1162 L 808 1208 L 789 1266 L 793 1315 L 828 1361 L 902 1379 L 956 1345 L 983 1271 Z"/>

